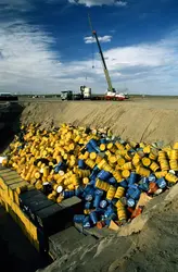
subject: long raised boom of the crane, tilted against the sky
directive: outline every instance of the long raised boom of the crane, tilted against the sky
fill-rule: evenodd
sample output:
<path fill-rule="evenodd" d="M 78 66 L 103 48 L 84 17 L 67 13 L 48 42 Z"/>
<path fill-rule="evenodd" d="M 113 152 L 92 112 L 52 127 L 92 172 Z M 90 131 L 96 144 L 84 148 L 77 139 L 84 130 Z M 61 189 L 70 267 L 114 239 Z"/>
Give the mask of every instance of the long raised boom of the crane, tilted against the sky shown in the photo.
<path fill-rule="evenodd" d="M 99 52 L 100 52 L 102 64 L 103 64 L 105 79 L 106 79 L 107 86 L 109 86 L 109 91 L 115 92 L 115 89 L 112 86 L 111 77 L 110 77 L 109 70 L 107 70 L 107 66 L 106 66 L 106 63 L 105 63 L 105 60 L 104 60 L 104 55 L 103 55 L 103 52 L 102 52 L 102 49 L 101 49 L 101 45 L 100 45 L 100 41 L 99 41 L 99 38 L 98 38 L 98 35 L 97 35 L 97 32 L 93 30 L 93 28 L 92 28 L 91 18 L 90 18 L 89 14 L 88 14 L 88 20 L 89 20 L 89 25 L 90 25 L 90 28 L 91 28 L 91 33 L 94 36 L 98 48 L 99 48 Z"/>

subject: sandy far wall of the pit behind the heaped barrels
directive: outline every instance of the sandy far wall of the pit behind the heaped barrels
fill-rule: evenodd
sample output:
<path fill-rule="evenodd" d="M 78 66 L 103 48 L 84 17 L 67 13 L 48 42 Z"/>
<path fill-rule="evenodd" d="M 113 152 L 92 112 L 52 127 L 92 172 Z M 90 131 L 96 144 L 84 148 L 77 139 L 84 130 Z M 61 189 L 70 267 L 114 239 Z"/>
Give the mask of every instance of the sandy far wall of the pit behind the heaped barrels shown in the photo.
<path fill-rule="evenodd" d="M 39 122 L 47 128 L 63 122 L 107 126 L 124 139 L 147 143 L 164 140 L 168 144 L 178 139 L 178 100 L 34 102 L 26 104 L 22 121 Z"/>

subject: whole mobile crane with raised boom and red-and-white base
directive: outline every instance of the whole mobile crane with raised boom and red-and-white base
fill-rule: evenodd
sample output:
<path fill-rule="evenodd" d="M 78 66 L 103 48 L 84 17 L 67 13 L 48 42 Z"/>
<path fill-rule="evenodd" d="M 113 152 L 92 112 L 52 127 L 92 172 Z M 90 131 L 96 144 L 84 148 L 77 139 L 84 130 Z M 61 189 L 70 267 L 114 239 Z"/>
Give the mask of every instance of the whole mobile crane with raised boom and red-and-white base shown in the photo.
<path fill-rule="evenodd" d="M 110 77 L 110 74 L 109 74 L 109 70 L 107 70 L 107 66 L 106 66 L 106 63 L 105 63 L 105 59 L 104 59 L 104 55 L 103 55 L 103 52 L 102 52 L 102 49 L 101 49 L 101 45 L 100 45 L 100 41 L 99 41 L 99 38 L 98 38 L 98 35 L 97 35 L 97 32 L 93 30 L 93 28 L 92 28 L 91 18 L 90 18 L 89 14 L 88 14 L 88 20 L 89 20 L 89 25 L 90 25 L 90 28 L 91 28 L 92 36 L 96 38 L 96 41 L 97 41 L 97 45 L 98 45 L 98 48 L 99 48 L 99 53 L 101 55 L 101 61 L 102 61 L 102 64 L 103 64 L 104 75 L 105 75 L 105 79 L 106 79 L 106 83 L 107 83 L 107 91 L 106 91 L 105 98 L 106 98 L 106 100 L 125 100 L 126 96 L 124 94 L 117 94 L 115 88 L 113 88 L 112 81 L 111 81 L 111 77 Z"/>

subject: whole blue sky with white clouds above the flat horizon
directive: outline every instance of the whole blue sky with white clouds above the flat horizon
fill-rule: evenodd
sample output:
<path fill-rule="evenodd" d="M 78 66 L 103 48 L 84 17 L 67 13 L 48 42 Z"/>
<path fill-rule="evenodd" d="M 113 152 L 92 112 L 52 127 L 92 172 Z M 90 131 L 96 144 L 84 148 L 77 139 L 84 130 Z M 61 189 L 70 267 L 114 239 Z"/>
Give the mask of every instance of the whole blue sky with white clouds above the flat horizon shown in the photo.
<path fill-rule="evenodd" d="M 178 94 L 177 0 L 0 0 L 0 89 L 105 92 L 88 12 L 116 89 Z"/>

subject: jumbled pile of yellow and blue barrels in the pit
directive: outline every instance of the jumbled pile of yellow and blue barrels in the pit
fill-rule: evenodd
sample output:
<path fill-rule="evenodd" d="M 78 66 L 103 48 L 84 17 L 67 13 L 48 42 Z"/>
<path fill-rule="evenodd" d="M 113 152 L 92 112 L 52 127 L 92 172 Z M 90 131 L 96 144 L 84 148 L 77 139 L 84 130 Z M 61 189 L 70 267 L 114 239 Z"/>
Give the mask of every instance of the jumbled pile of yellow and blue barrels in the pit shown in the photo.
<path fill-rule="evenodd" d="M 62 124 L 51 131 L 38 124 L 21 127 L 3 165 L 58 203 L 77 196 L 84 227 L 126 223 L 142 211 L 142 194 L 161 194 L 178 181 L 178 143 L 173 147 L 124 141 L 106 128 Z"/>

